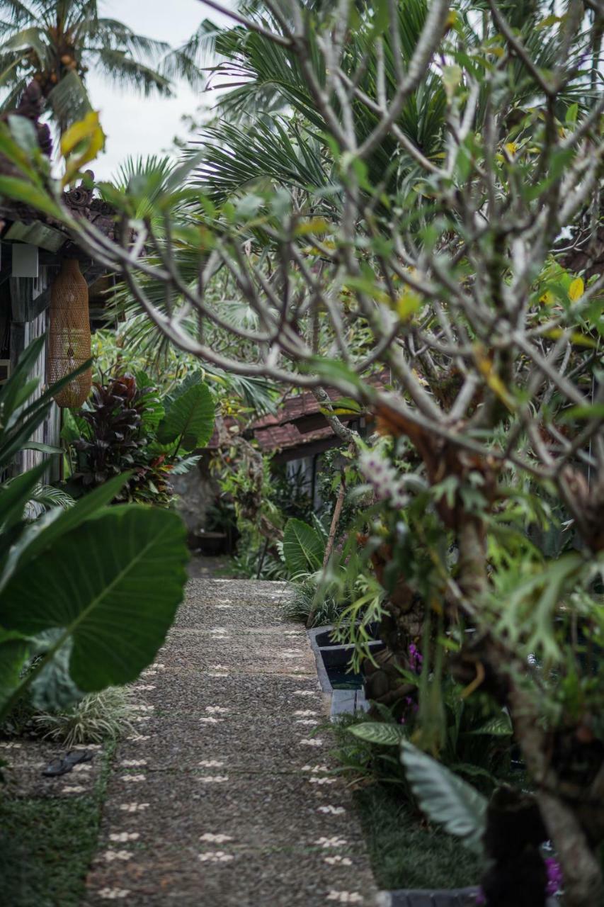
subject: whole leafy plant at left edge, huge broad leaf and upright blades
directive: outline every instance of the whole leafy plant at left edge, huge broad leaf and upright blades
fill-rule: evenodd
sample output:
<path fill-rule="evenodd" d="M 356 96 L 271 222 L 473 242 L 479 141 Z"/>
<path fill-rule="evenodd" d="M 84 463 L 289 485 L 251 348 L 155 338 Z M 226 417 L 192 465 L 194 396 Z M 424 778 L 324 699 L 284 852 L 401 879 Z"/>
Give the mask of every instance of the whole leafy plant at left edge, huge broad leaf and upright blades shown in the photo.
<path fill-rule="evenodd" d="M 0 389 L 2 469 L 28 444 L 57 391 L 30 402 L 39 379 L 28 374 L 42 344 L 44 337 L 25 350 Z M 25 695 L 36 708 L 56 709 L 136 679 L 160 648 L 186 580 L 185 532 L 175 513 L 107 507 L 127 475 L 27 522 L 24 508 L 46 468 L 42 462 L 0 485 L 3 719 Z"/>

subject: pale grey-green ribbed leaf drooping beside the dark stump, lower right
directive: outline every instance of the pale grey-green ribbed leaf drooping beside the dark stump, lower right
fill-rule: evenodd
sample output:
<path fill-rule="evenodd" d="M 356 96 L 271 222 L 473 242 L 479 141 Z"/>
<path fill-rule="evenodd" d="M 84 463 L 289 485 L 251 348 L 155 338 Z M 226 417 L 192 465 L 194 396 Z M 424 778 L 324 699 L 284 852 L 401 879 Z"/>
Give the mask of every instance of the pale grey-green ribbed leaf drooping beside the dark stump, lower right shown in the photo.
<path fill-rule="evenodd" d="M 466 847 L 482 854 L 486 797 L 407 741 L 401 745 L 401 761 L 424 814 L 432 822 L 443 825 L 446 832 L 454 834 Z"/>

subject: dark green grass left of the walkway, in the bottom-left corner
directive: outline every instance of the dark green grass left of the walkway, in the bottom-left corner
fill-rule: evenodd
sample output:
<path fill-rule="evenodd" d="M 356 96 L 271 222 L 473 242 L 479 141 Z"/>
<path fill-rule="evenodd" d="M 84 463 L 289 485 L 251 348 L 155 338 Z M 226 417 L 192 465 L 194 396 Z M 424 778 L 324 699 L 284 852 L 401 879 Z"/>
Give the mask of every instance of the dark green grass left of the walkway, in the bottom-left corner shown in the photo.
<path fill-rule="evenodd" d="M 0 798 L 2 902 L 11 907 L 78 907 L 101 824 L 114 744 L 103 753 L 93 794 Z"/>

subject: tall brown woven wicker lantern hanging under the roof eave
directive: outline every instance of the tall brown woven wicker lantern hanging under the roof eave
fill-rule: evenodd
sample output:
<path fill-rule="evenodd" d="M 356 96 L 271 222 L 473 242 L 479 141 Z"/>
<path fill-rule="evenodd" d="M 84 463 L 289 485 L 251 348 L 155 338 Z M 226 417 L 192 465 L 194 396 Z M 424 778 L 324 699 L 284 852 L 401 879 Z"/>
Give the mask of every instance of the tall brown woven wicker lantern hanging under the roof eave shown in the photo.
<path fill-rule="evenodd" d="M 88 284 L 80 271 L 77 258 L 63 258 L 61 270 L 51 290 L 50 329 L 48 333 L 47 381 L 49 385 L 69 375 L 91 356 Z M 55 395 L 59 406 L 75 409 L 90 394 L 92 369 Z"/>

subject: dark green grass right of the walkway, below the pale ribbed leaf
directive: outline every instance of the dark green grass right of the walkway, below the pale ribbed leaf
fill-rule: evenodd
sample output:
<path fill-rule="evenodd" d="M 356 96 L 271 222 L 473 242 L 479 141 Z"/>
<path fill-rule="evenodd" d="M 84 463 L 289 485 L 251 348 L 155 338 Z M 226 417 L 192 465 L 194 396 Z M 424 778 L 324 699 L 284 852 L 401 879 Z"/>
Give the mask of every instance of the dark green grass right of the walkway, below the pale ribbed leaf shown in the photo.
<path fill-rule="evenodd" d="M 423 824 L 395 789 L 369 785 L 356 791 L 355 800 L 380 888 L 464 888 L 480 882 L 480 859 L 451 835 Z"/>

